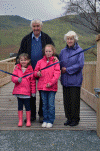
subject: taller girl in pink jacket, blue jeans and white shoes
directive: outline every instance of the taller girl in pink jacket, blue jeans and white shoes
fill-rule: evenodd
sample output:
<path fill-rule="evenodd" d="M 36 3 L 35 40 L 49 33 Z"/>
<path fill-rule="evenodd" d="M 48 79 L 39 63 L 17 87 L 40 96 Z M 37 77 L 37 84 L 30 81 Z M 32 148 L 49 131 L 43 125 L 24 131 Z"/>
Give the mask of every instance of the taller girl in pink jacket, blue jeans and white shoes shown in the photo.
<path fill-rule="evenodd" d="M 34 75 L 39 77 L 37 89 L 41 91 L 43 101 L 43 124 L 42 127 L 51 128 L 55 120 L 55 94 L 60 76 L 59 63 L 41 70 L 57 61 L 54 61 L 55 48 L 53 45 L 46 45 L 44 57 L 36 64 Z"/>

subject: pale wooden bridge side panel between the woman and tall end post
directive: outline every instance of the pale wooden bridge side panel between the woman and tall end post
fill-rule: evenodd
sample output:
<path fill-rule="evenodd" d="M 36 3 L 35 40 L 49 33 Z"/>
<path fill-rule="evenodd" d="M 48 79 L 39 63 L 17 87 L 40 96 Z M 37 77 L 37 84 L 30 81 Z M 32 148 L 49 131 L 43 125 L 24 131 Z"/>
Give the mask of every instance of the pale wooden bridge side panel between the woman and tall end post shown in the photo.
<path fill-rule="evenodd" d="M 83 68 L 81 99 L 97 111 L 97 98 L 95 96 L 94 88 L 96 88 L 96 62 L 85 62 Z"/>

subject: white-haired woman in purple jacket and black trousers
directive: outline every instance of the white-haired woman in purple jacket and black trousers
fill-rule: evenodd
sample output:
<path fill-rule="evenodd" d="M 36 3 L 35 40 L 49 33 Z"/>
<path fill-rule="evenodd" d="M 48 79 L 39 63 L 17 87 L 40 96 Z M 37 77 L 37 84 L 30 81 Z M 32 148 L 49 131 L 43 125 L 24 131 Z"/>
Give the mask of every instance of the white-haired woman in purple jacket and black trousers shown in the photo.
<path fill-rule="evenodd" d="M 69 31 L 64 36 L 67 45 L 61 50 L 61 84 L 63 86 L 63 100 L 65 126 L 76 126 L 80 121 L 80 87 L 82 85 L 82 69 L 84 66 L 84 53 L 79 53 L 82 48 L 78 45 L 78 36 L 74 31 Z M 70 57 L 72 56 L 72 57 Z"/>

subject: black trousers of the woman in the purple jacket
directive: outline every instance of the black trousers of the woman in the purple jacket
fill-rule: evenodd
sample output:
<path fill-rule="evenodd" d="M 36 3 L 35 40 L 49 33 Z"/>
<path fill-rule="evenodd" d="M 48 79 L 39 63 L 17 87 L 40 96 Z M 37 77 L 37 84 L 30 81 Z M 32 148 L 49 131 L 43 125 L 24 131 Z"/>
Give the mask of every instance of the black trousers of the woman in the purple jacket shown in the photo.
<path fill-rule="evenodd" d="M 65 117 L 68 120 L 80 120 L 80 87 L 63 86 Z"/>

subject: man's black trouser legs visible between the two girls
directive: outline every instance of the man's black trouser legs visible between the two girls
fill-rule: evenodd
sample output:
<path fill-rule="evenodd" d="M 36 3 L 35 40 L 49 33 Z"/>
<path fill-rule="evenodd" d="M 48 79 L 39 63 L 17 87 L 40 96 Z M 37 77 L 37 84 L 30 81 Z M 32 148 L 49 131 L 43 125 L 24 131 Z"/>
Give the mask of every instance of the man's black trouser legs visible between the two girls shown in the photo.
<path fill-rule="evenodd" d="M 43 110 L 42 110 L 42 97 L 41 97 L 41 91 L 39 91 L 39 116 L 43 116 Z M 31 107 L 31 117 L 36 118 L 36 97 L 31 97 L 30 99 L 30 107 Z"/>

